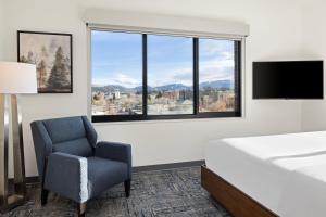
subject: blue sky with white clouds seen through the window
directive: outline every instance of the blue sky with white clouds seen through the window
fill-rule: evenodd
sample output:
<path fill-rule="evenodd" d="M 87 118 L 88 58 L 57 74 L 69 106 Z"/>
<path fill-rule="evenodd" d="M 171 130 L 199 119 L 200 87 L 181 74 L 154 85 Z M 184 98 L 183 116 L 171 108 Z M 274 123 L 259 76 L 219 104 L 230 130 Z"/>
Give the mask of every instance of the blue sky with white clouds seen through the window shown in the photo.
<path fill-rule="evenodd" d="M 233 79 L 234 42 L 201 39 L 200 82 Z M 91 33 L 92 85 L 141 86 L 141 35 Z M 192 85 L 192 39 L 148 35 L 148 84 Z"/>

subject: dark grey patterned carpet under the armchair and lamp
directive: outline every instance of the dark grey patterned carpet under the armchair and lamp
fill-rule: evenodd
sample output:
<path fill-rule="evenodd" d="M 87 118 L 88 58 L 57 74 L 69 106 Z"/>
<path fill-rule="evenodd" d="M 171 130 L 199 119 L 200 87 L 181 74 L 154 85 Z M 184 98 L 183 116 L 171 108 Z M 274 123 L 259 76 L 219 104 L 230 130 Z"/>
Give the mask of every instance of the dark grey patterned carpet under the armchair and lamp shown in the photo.
<path fill-rule="evenodd" d="M 38 184 L 30 184 L 28 202 L 2 216 L 75 216 L 75 204 L 53 193 L 50 193 L 48 204 L 41 207 L 39 191 Z M 229 217 L 230 215 L 201 188 L 200 167 L 187 167 L 134 174 L 129 199 L 125 197 L 123 184 L 118 184 L 88 202 L 86 216 Z"/>

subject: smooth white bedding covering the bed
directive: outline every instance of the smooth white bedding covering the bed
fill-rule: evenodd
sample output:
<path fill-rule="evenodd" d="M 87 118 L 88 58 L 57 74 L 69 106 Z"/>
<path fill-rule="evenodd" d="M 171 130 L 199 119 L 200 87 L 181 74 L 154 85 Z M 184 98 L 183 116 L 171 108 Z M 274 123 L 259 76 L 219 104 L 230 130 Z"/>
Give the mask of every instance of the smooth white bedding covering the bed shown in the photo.
<path fill-rule="evenodd" d="M 205 162 L 279 216 L 326 216 L 326 131 L 213 140 Z"/>

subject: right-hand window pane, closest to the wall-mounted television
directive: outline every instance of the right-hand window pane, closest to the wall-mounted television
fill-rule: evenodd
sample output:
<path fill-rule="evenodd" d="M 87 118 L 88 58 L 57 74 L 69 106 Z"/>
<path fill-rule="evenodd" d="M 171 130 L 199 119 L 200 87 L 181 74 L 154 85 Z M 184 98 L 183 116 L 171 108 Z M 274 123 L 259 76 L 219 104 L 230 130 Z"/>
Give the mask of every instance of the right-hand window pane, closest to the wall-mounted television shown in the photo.
<path fill-rule="evenodd" d="M 234 112 L 235 101 L 235 41 L 199 39 L 199 112 Z"/>

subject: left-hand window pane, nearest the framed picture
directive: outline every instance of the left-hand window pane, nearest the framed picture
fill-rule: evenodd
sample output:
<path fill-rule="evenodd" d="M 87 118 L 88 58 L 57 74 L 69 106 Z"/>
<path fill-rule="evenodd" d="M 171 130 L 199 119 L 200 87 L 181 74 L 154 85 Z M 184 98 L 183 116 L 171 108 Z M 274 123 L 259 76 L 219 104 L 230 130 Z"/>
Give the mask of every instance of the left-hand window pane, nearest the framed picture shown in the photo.
<path fill-rule="evenodd" d="M 91 31 L 92 115 L 142 114 L 141 34 Z"/>

